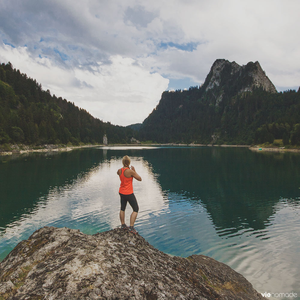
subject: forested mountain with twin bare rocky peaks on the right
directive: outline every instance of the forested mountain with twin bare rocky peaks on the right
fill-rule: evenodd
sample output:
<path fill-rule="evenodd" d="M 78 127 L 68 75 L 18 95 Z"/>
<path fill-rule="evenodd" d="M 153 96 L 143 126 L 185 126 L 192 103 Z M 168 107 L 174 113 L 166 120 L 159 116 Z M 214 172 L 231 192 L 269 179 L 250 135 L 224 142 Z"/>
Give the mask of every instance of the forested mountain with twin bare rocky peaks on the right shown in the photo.
<path fill-rule="evenodd" d="M 299 123 L 300 88 L 278 93 L 258 62 L 241 67 L 217 60 L 199 88 L 162 94 L 143 122 L 140 139 L 229 145 L 283 139 L 295 145 Z"/>

